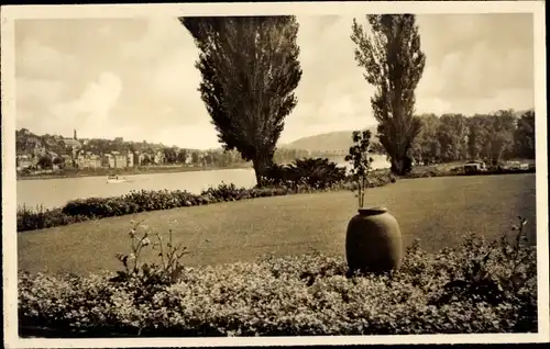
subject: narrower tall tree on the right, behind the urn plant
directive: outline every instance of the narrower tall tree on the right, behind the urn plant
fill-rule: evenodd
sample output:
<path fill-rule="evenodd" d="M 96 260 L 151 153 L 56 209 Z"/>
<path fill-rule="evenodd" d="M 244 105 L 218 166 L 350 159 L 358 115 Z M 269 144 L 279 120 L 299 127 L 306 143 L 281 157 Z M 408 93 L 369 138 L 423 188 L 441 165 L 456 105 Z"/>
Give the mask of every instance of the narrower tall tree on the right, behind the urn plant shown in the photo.
<path fill-rule="evenodd" d="M 414 116 L 415 89 L 420 81 L 426 56 L 420 50 L 420 35 L 414 14 L 370 14 L 372 35 L 353 20 L 351 40 L 355 60 L 365 69 L 365 80 L 375 87 L 371 99 L 378 121 L 378 138 L 392 162 L 392 171 L 410 170 L 410 155 L 420 133 Z"/>

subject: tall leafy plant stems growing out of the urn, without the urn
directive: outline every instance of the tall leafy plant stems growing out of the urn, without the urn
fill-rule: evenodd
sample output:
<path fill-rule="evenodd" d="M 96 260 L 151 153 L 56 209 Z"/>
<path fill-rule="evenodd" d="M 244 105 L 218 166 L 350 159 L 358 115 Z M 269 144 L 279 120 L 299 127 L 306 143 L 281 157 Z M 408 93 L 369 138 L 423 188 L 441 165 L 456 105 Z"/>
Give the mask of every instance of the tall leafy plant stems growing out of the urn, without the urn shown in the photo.
<path fill-rule="evenodd" d="M 373 158 L 369 156 L 370 153 L 373 153 L 370 148 L 371 131 L 366 130 L 362 133 L 354 131 L 352 139 L 354 144 L 350 147 L 345 161 L 352 166 L 351 177 L 358 183 L 359 209 L 361 209 L 365 202 L 365 189 L 369 187 L 369 172 L 373 162 Z"/>

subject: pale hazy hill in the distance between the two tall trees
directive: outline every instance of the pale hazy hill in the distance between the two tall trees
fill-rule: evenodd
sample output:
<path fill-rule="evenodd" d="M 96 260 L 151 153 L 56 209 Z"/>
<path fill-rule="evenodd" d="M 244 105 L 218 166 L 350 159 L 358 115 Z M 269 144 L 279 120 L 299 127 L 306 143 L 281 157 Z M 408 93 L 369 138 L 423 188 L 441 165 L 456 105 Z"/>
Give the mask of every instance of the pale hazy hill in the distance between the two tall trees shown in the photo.
<path fill-rule="evenodd" d="M 367 127 L 376 135 L 376 126 Z M 300 149 L 310 151 L 343 150 L 348 151 L 352 146 L 351 135 L 353 131 L 336 131 L 314 136 L 298 138 L 292 143 L 280 145 L 280 148 Z"/>

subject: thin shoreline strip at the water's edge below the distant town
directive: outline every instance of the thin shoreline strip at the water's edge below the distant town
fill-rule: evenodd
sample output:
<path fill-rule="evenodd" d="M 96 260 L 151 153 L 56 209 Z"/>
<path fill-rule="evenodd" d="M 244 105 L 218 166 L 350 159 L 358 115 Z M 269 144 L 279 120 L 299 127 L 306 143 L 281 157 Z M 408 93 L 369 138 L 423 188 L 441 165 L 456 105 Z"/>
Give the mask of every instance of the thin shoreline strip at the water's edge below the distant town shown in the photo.
<path fill-rule="evenodd" d="M 180 172 L 199 172 L 215 170 L 234 170 L 252 168 L 250 164 L 240 164 L 228 167 L 189 167 L 189 166 L 170 166 L 170 167 L 141 167 L 136 169 L 100 169 L 94 170 L 72 170 L 70 172 L 42 173 L 42 174 L 19 174 L 16 180 L 48 180 L 63 178 L 81 178 L 81 177 L 106 177 L 114 176 L 139 176 L 139 174 L 157 174 L 157 173 L 180 173 Z"/>

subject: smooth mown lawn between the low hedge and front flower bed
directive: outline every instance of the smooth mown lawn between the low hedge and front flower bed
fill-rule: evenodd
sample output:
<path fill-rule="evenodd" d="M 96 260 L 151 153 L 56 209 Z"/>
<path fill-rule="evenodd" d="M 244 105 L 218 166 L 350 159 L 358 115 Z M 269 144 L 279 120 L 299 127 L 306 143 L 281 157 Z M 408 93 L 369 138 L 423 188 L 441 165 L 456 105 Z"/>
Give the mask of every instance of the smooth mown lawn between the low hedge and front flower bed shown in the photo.
<path fill-rule="evenodd" d="M 402 180 L 370 189 L 366 205 L 384 205 L 400 224 L 405 246 L 420 238 L 428 251 L 452 246 L 469 230 L 493 238 L 516 217 L 528 218 L 535 243 L 535 174 L 441 177 Z M 253 260 L 265 254 L 321 250 L 343 255 L 351 192 L 263 198 L 208 206 L 146 212 L 18 234 L 19 269 L 88 273 L 117 270 L 128 251 L 130 221 L 153 232 L 173 230 L 190 251 L 187 264 Z M 152 256 L 150 256 L 152 257 Z"/>

